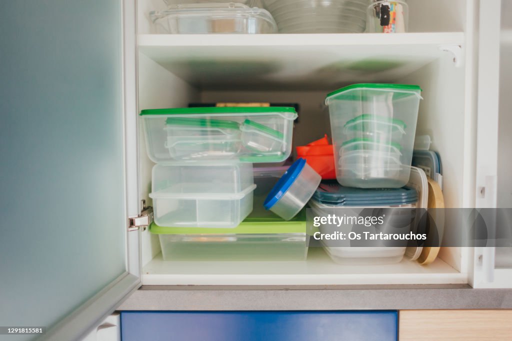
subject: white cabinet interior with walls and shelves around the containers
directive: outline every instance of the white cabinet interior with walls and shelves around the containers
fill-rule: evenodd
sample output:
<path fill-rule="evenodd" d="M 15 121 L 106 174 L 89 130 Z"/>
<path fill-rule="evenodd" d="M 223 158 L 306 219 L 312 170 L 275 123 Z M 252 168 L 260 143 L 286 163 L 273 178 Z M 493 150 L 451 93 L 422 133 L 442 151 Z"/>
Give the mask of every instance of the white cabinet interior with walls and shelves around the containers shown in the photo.
<path fill-rule="evenodd" d="M 301 34 L 288 38 L 155 35 L 147 13 L 164 7 L 163 2 L 139 1 L 139 109 L 182 107 L 189 102 L 296 102 L 300 104 L 300 119 L 293 132 L 296 146 L 326 133 L 331 135 L 324 106 L 328 92 L 356 82 L 418 84 L 423 100 L 417 135 L 431 135 L 431 150 L 441 156 L 445 206 L 473 207 L 474 63 L 472 47 L 466 41 L 472 39 L 474 2 L 408 3 L 413 33 Z M 443 51 L 446 47 L 455 53 Z M 264 71 L 266 76 L 261 75 Z M 139 145 L 140 196 L 151 205 L 148 193 L 154 164 L 146 156 L 142 124 Z M 449 226 L 447 222 L 447 233 Z M 305 262 L 164 262 L 158 237 L 146 230 L 142 232 L 142 282 L 465 284 L 471 253 L 469 248 L 443 248 L 429 266 L 406 259 L 392 265 L 343 266 L 333 263 L 319 248 L 310 249 Z"/>

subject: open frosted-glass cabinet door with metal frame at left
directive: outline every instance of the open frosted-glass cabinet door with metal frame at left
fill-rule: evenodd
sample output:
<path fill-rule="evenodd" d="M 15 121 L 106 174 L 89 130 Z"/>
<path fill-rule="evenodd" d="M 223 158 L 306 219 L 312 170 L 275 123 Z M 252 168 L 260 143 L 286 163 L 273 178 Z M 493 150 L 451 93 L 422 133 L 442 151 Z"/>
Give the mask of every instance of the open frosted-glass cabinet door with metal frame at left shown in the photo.
<path fill-rule="evenodd" d="M 0 32 L 0 326 L 79 339 L 140 286 L 135 1 L 2 1 Z"/>

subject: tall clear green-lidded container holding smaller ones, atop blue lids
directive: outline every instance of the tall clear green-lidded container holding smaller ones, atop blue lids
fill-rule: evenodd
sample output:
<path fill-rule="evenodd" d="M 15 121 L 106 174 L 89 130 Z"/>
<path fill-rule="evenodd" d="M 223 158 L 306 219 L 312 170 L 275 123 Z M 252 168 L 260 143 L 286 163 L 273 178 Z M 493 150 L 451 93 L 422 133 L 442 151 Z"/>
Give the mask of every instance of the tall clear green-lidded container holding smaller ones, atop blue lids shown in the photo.
<path fill-rule="evenodd" d="M 327 95 L 340 184 L 361 188 L 407 184 L 420 93 L 415 85 L 364 83 Z M 374 123 L 363 123 L 361 116 Z M 401 136 L 399 141 L 397 136 Z"/>

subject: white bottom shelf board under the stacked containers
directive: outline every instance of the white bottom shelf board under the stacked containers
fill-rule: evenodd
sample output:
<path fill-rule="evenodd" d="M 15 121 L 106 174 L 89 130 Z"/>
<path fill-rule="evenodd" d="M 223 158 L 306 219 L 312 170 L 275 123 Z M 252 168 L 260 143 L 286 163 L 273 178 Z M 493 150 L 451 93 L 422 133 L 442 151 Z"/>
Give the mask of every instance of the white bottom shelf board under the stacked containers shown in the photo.
<path fill-rule="evenodd" d="M 143 285 L 365 285 L 466 284 L 460 273 L 437 259 L 429 266 L 398 264 L 347 266 L 310 248 L 306 262 L 165 262 L 159 254 L 142 271 Z"/>

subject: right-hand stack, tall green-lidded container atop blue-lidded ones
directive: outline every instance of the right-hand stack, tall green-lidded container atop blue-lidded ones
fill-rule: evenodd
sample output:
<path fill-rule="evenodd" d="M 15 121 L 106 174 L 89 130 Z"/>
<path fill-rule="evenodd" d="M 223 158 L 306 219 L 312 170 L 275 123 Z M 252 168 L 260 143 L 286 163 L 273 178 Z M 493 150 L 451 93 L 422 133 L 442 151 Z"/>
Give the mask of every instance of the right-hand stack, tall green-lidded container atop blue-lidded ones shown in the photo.
<path fill-rule="evenodd" d="M 396 216 L 391 225 L 378 229 L 409 232 L 419 194 L 416 185 L 404 186 L 411 176 L 420 93 L 415 85 L 364 83 L 327 95 L 339 184 L 324 183 L 317 189 L 310 206 L 318 215 L 339 207 L 346 208 L 344 214 L 358 217 L 374 215 L 374 209 L 386 209 Z M 426 193 L 428 188 L 421 191 Z M 334 227 L 349 233 L 353 225 Z M 320 229 L 329 232 L 334 227 L 322 225 Z M 407 242 L 388 245 L 380 241 L 354 247 L 347 240 L 345 244 L 323 242 L 330 257 L 343 264 L 399 262 L 407 247 Z"/>

